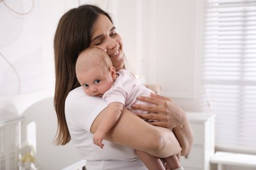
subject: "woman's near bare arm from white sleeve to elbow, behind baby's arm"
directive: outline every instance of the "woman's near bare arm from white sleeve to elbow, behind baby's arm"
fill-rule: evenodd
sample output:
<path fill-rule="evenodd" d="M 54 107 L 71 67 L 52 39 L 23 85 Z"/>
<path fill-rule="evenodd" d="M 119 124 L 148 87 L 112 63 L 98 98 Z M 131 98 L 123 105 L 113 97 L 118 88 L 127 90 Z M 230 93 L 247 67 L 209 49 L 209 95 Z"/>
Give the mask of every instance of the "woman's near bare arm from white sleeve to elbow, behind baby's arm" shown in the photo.
<path fill-rule="evenodd" d="M 106 116 L 106 112 L 102 110 L 91 126 L 92 133 L 98 129 L 104 116 Z M 181 146 L 172 131 L 163 127 L 151 126 L 125 108 L 116 126 L 108 132 L 104 139 L 148 152 L 160 158 L 181 152 Z"/>

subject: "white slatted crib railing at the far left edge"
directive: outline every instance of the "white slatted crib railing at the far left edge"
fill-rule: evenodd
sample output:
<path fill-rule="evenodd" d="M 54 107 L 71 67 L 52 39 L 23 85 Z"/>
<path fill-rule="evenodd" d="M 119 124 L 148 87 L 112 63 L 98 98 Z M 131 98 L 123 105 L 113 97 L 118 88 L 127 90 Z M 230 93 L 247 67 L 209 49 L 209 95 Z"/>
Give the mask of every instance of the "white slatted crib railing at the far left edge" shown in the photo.
<path fill-rule="evenodd" d="M 18 169 L 23 116 L 0 118 L 0 169 Z"/>

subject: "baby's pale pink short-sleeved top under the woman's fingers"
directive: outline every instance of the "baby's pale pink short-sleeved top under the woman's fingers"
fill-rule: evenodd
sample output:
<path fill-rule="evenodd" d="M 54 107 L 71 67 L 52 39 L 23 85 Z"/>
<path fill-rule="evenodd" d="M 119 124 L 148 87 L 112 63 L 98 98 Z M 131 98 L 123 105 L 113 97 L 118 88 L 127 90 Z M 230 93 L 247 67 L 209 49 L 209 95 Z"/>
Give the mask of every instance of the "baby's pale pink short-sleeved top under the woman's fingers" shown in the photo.
<path fill-rule="evenodd" d="M 138 101 L 137 96 L 150 96 L 152 90 L 142 85 L 133 74 L 125 69 L 120 69 L 116 73 L 119 76 L 117 76 L 110 90 L 104 93 L 102 99 L 105 99 L 108 105 L 112 102 L 119 102 L 122 103 L 127 109 L 131 110 L 131 112 L 143 112 L 142 110 L 132 109 L 131 106 L 135 103 L 150 105 L 150 103 Z"/>

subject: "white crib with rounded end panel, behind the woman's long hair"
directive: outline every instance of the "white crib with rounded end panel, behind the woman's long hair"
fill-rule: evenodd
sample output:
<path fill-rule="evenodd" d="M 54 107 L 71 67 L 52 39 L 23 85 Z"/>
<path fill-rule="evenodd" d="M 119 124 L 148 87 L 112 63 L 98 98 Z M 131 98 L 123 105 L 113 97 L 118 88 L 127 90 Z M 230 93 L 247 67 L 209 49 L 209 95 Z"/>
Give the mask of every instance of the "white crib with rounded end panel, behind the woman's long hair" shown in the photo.
<path fill-rule="evenodd" d="M 33 126 L 30 126 L 33 123 Z M 22 116 L 0 121 L 0 169 L 18 169 L 20 144 L 33 139 L 35 158 L 40 170 L 66 169 L 80 161 L 81 156 L 72 142 L 65 146 L 53 143 L 57 129 L 53 97 L 42 99 L 26 109 Z M 29 143 L 31 141 L 28 141 Z M 83 163 L 79 168 L 85 169 Z M 73 169 L 79 169 L 78 167 Z M 67 170 L 67 169 L 66 169 Z"/>

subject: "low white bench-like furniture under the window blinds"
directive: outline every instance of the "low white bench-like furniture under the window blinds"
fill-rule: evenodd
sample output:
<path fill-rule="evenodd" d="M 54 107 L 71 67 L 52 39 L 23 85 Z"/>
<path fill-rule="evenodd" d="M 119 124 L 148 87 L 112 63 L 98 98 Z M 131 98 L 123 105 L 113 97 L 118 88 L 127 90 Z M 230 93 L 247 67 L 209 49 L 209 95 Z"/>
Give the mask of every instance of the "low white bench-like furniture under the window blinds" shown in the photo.
<path fill-rule="evenodd" d="M 222 170 L 223 165 L 256 168 L 256 155 L 216 152 L 214 156 L 211 157 L 211 163 L 217 163 L 218 170 Z"/>

